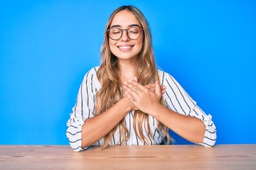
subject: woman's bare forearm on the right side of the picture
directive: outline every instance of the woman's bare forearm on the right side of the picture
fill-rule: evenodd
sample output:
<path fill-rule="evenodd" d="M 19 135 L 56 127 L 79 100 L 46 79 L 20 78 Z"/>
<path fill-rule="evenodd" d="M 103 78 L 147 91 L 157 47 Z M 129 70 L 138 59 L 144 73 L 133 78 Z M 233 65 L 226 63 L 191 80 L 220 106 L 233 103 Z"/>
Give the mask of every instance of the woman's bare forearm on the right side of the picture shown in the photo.
<path fill-rule="evenodd" d="M 203 142 L 206 125 L 198 118 L 181 115 L 161 104 L 152 109 L 151 115 L 186 140 Z"/>

